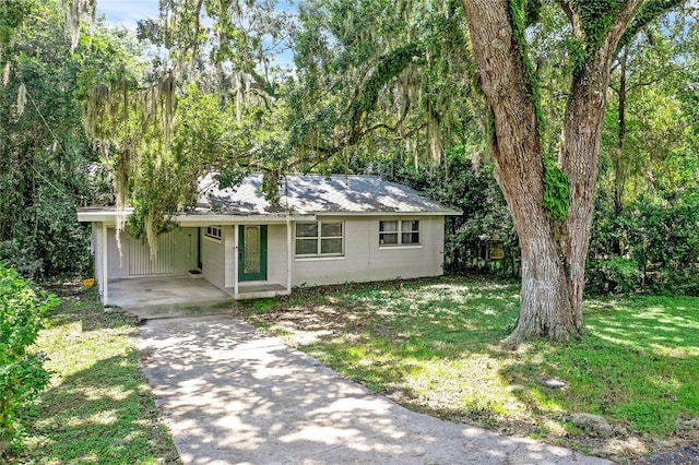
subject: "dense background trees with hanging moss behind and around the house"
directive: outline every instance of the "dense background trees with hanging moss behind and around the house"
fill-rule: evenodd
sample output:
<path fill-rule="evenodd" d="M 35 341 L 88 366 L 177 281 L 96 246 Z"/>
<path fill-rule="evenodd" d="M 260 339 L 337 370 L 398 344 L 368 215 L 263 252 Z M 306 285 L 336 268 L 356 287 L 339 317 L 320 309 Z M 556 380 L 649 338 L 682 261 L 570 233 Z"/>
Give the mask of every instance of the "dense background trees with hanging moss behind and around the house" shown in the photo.
<path fill-rule="evenodd" d="M 3 5 L 0 258 L 25 276 L 86 276 L 76 206 L 128 203 L 152 239 L 212 169 L 229 184 L 261 170 L 268 187 L 291 171 L 364 172 L 464 212 L 447 220 L 447 272 L 519 273 L 459 2 L 318 0 L 297 14 L 224 3 L 194 13 L 166 2 L 177 21 L 143 21 L 137 34 L 93 23 L 80 9 L 90 2 Z M 572 46 L 549 38 L 560 14 L 544 4 L 529 28 L 550 153 L 572 72 Z M 698 294 L 696 9 L 626 44 L 608 91 L 588 282 Z M 289 50 L 293 70 L 274 58 Z"/>

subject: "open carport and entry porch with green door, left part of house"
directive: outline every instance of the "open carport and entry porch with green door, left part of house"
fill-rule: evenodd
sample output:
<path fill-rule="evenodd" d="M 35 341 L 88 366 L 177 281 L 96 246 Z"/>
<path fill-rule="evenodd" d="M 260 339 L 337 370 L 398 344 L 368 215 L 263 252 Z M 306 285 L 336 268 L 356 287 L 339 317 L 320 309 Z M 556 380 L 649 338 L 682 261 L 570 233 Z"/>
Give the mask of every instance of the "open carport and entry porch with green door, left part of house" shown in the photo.
<path fill-rule="evenodd" d="M 156 253 L 129 228 L 117 231 L 115 208 L 79 208 L 78 219 L 92 223 L 94 277 L 105 305 L 210 305 L 288 295 L 292 288 L 293 227 L 285 214 L 177 216 L 179 227 L 157 237 Z M 244 239 L 249 230 L 260 231 L 258 247 Z M 244 250 L 259 251 L 257 261 L 246 261 Z"/>

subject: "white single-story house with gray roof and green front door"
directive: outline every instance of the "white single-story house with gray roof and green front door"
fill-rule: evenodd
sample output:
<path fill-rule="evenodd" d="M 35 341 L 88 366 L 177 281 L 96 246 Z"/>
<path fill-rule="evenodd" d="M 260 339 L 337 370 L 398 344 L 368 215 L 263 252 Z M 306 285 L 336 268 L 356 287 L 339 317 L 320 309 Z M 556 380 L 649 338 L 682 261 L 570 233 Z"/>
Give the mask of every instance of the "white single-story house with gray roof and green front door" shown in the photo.
<path fill-rule="evenodd" d="M 180 228 L 149 246 L 121 235 L 114 207 L 79 208 L 91 223 L 103 301 L 110 279 L 194 273 L 235 299 L 286 295 L 295 286 L 442 274 L 445 216 L 452 208 L 376 176 L 288 175 L 280 201 L 262 175 L 237 188 L 201 180 L 199 204 L 175 217 Z"/>

